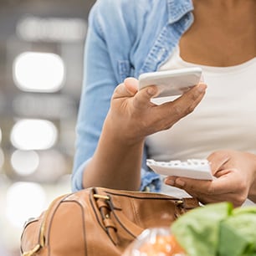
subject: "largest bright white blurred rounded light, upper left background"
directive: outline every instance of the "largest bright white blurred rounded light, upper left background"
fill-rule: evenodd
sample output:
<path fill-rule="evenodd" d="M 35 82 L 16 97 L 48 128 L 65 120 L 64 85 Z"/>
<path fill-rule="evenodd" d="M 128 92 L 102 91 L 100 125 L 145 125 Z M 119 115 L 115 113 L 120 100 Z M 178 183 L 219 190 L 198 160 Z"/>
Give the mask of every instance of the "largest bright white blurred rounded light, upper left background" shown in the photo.
<path fill-rule="evenodd" d="M 64 76 L 64 62 L 57 54 L 25 52 L 13 62 L 13 80 L 20 90 L 55 92 Z"/>

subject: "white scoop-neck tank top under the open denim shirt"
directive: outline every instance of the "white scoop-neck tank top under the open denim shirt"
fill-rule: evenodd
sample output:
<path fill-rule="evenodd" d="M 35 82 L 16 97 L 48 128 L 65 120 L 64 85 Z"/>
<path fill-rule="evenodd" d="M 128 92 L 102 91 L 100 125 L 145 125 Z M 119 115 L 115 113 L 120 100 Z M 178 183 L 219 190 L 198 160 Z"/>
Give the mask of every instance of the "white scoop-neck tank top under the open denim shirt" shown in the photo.
<path fill-rule="evenodd" d="M 202 68 L 206 95 L 192 114 L 168 131 L 146 138 L 150 157 L 156 161 L 206 158 L 219 149 L 256 154 L 256 58 L 235 66 L 212 67 L 187 63 L 176 49 L 160 70 L 191 66 Z M 164 186 L 165 191 L 170 193 L 170 187 Z"/>

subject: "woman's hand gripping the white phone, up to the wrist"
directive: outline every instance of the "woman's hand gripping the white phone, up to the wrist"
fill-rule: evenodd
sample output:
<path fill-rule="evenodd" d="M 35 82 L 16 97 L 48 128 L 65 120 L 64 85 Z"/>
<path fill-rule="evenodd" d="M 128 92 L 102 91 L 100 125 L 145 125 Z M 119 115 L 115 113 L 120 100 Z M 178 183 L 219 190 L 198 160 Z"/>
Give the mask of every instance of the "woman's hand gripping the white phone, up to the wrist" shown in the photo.
<path fill-rule="evenodd" d="M 190 114 L 202 100 L 206 88 L 206 84 L 197 84 L 176 100 L 155 105 L 151 102 L 157 95 L 155 85 L 138 91 L 138 80 L 127 78 L 114 91 L 106 122 L 110 121 L 112 132 L 125 144 L 143 141 Z"/>

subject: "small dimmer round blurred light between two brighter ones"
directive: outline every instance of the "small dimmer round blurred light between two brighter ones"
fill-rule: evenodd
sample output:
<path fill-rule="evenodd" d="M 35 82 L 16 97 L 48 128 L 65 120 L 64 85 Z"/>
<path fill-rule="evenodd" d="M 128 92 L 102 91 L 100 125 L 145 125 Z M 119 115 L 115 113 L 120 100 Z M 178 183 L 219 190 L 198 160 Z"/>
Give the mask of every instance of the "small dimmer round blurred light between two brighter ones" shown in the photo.
<path fill-rule="evenodd" d="M 11 164 L 19 175 L 31 175 L 39 166 L 38 153 L 36 151 L 14 151 L 11 156 Z"/>

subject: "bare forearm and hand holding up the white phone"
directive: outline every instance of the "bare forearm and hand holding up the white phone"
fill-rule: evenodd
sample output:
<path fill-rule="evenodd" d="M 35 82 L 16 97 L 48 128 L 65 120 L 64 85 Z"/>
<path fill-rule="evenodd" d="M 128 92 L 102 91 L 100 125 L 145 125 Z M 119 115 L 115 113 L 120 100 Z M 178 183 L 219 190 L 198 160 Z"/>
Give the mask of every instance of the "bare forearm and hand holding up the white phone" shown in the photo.
<path fill-rule="evenodd" d="M 151 103 L 156 86 L 137 91 L 136 79 L 125 79 L 114 92 L 110 111 L 90 163 L 84 169 L 84 187 L 138 190 L 145 137 L 169 129 L 202 100 L 205 84 L 198 84 L 177 100 Z"/>

